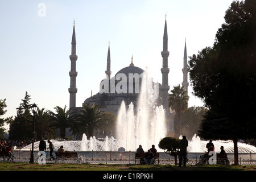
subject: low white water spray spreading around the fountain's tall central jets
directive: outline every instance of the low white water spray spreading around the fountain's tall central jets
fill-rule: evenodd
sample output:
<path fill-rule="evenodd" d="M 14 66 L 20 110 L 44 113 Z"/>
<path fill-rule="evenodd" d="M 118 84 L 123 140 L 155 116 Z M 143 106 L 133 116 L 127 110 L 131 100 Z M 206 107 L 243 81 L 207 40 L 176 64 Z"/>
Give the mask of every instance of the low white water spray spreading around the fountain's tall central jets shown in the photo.
<path fill-rule="evenodd" d="M 86 135 L 84 134 L 82 137 L 82 140 L 72 140 L 72 141 L 67 141 L 67 140 L 57 140 L 53 139 L 51 140 L 53 143 L 53 146 L 55 147 L 54 151 L 57 151 L 57 149 L 60 146 L 64 147 L 65 151 L 118 151 L 119 147 L 123 147 L 122 141 L 114 139 L 113 137 L 105 137 L 105 138 L 100 138 L 96 139 L 95 137 L 91 137 L 90 139 L 86 139 Z M 155 146 L 158 151 L 160 148 L 158 148 L 158 143 L 159 141 L 156 141 Z M 188 140 L 188 152 L 199 152 L 199 153 L 204 153 L 207 151 L 207 148 L 205 147 L 208 141 L 206 140 L 201 140 L 200 137 L 197 135 L 194 135 L 192 140 Z M 213 140 L 213 144 L 215 147 L 216 152 L 220 152 L 220 147 L 224 146 L 224 150 L 227 153 L 233 153 L 234 152 L 234 144 L 232 140 Z M 131 144 L 131 148 L 126 148 L 126 151 L 135 151 L 135 143 L 134 147 L 133 144 Z M 48 143 L 47 143 L 47 147 Z M 151 147 L 151 146 L 150 146 Z M 29 144 L 26 147 L 22 148 L 22 151 L 29 151 L 32 148 L 32 144 Z M 145 149 L 145 147 L 143 147 Z M 34 143 L 34 150 L 39 151 L 39 141 Z M 241 143 L 238 142 L 238 153 L 256 153 L 256 147 L 251 146 L 250 144 L 246 143 Z"/>

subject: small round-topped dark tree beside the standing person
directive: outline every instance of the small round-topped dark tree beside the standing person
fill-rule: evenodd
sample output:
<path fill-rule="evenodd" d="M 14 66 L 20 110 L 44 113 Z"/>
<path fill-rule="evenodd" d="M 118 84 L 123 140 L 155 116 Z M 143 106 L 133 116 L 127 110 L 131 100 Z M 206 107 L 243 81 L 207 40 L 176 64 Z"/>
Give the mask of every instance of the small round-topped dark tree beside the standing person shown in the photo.
<path fill-rule="evenodd" d="M 174 156 L 175 165 L 177 165 L 177 156 L 179 155 L 180 152 L 179 138 L 165 137 L 162 140 L 160 140 L 158 147 L 162 148 L 166 154 Z"/>

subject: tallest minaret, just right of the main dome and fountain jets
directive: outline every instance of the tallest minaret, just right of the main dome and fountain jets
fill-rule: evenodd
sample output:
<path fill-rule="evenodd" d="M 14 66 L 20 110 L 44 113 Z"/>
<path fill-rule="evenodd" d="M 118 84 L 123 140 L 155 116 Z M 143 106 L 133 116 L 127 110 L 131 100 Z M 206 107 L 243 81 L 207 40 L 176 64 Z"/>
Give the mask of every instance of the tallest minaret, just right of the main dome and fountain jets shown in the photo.
<path fill-rule="evenodd" d="M 166 110 L 166 114 L 169 114 L 168 109 L 168 90 L 170 89 L 170 86 L 168 85 L 168 73 L 170 69 L 168 68 L 168 35 L 167 35 L 167 23 L 165 22 L 164 25 L 164 36 L 163 36 L 163 51 L 161 52 L 163 57 L 163 68 L 161 69 L 162 72 L 162 99 L 163 99 L 163 108 Z"/>

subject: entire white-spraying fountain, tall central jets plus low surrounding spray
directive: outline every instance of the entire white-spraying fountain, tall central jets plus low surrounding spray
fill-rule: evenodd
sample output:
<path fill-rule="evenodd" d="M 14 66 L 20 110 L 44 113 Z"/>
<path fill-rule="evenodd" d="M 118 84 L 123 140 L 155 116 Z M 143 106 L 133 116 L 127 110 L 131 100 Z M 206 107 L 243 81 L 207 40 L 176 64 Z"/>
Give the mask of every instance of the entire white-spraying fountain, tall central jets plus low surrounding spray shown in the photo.
<path fill-rule="evenodd" d="M 135 110 L 131 102 L 126 109 L 125 102 L 122 102 L 117 116 L 117 139 L 113 137 L 105 137 L 96 139 L 96 137 L 86 138 L 83 134 L 82 140 L 67 141 L 52 139 L 51 142 L 55 146 L 55 151 L 64 146 L 65 151 L 118 151 L 118 148 L 124 147 L 126 151 L 136 151 L 139 144 L 142 144 L 144 151 L 151 148 L 155 144 L 158 151 L 160 139 L 166 137 L 167 130 L 165 126 L 165 117 L 163 106 L 157 106 L 156 100 L 152 99 L 158 90 L 152 85 L 151 77 L 148 72 L 143 73 L 141 92 Z M 194 135 L 188 143 L 188 152 L 205 152 L 208 141 L 201 140 L 200 137 Z M 227 153 L 232 153 L 232 140 L 214 140 L 216 152 L 220 152 L 220 146 L 224 146 Z M 47 143 L 48 144 L 48 143 Z M 39 142 L 34 143 L 35 150 L 39 150 Z M 31 150 L 31 144 L 22 148 L 22 150 Z M 245 143 L 238 143 L 238 152 L 256 152 L 256 147 Z"/>

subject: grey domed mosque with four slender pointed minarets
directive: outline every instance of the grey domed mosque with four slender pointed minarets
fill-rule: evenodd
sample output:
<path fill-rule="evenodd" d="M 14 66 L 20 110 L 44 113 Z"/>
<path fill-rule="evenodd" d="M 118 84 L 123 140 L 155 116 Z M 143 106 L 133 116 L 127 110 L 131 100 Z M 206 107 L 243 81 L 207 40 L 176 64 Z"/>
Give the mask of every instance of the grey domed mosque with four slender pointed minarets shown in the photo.
<path fill-rule="evenodd" d="M 76 107 L 76 33 L 75 33 L 75 23 L 73 26 L 73 35 L 72 35 L 72 51 L 71 55 L 69 56 L 71 60 L 71 71 L 69 72 L 70 76 L 70 88 L 68 89 L 70 93 L 70 100 L 69 100 L 69 108 L 73 109 L 74 111 L 78 112 L 79 107 Z M 170 109 L 168 108 L 168 92 L 170 90 L 170 86 L 168 85 L 168 73 L 170 69 L 168 68 L 168 34 L 167 34 L 167 21 L 165 20 L 164 24 L 164 34 L 163 34 L 163 51 L 161 52 L 162 55 L 162 84 L 158 84 L 159 88 L 159 97 L 158 97 L 158 105 L 163 105 L 163 108 L 166 110 L 166 114 L 170 114 Z M 187 48 L 185 43 L 184 48 L 184 68 L 182 69 L 183 72 L 183 83 L 184 89 L 188 91 L 188 71 L 187 71 Z M 139 81 L 139 85 L 141 85 L 141 74 L 144 72 L 142 68 L 136 67 L 133 63 L 133 57 L 131 58 L 130 65 L 127 67 L 120 69 L 114 77 L 111 78 L 111 60 L 110 60 L 110 46 L 108 47 L 108 56 L 106 61 L 106 78 L 100 82 L 100 92 L 86 98 L 83 104 L 92 106 L 93 104 L 97 104 L 101 106 L 101 110 L 112 112 L 115 115 L 118 113 L 118 109 L 121 105 L 121 102 L 124 101 L 125 104 L 128 106 L 130 102 L 133 102 L 134 107 L 137 106 L 137 100 L 139 96 L 139 88 L 137 88 L 135 80 L 137 76 Z M 132 77 L 133 76 L 133 77 Z M 120 78 L 121 77 L 121 78 Z M 121 84 L 121 81 L 125 80 L 126 84 Z M 122 82 L 123 83 L 123 82 Z M 132 84 L 129 84 L 132 83 Z M 113 89 L 115 88 L 115 89 Z M 116 88 L 119 88 L 117 90 Z M 119 92 L 118 92 L 119 91 Z M 82 106 L 81 106 L 82 107 Z"/>

